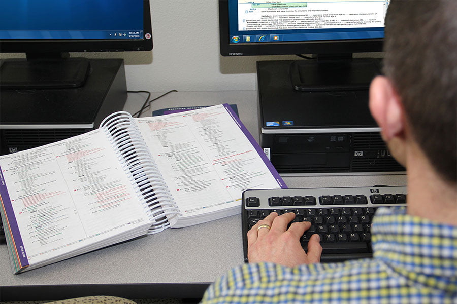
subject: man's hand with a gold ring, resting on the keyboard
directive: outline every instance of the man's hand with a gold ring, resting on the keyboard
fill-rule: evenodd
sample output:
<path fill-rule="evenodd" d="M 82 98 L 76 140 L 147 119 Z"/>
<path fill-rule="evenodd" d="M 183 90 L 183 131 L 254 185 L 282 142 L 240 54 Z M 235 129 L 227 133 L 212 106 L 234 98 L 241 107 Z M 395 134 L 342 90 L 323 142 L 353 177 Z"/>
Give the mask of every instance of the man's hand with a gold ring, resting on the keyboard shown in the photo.
<path fill-rule="evenodd" d="M 288 267 L 318 263 L 322 253 L 319 236 L 313 235 L 310 238 L 306 254 L 300 245 L 300 238 L 311 223 L 295 222 L 287 229 L 287 225 L 294 218 L 295 213 L 278 216 L 276 212 L 272 212 L 256 223 L 247 233 L 249 262 L 273 262 Z M 258 229 L 263 224 L 271 226 L 271 229 Z"/>

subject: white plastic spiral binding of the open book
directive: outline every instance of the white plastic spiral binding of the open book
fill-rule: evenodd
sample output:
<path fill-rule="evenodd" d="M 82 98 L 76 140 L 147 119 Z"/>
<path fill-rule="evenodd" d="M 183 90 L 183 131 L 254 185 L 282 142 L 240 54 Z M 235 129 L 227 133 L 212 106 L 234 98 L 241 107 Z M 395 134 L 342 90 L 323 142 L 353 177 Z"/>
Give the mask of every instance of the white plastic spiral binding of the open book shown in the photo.
<path fill-rule="evenodd" d="M 170 227 L 168 217 L 181 212 L 160 174 L 141 136 L 135 120 L 128 112 L 115 112 L 105 118 L 100 128 L 110 139 L 121 167 L 128 175 L 143 208 L 153 222 L 148 234 Z"/>

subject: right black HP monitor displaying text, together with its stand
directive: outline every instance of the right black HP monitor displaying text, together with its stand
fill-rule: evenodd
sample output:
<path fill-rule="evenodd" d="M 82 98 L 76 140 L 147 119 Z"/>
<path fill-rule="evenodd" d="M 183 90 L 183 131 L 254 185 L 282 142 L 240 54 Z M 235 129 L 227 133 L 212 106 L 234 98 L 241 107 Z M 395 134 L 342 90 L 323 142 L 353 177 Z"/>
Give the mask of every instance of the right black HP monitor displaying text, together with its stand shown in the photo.
<path fill-rule="evenodd" d="M 313 54 L 290 66 L 301 91 L 366 89 L 379 64 L 390 0 L 219 0 L 223 56 Z"/>

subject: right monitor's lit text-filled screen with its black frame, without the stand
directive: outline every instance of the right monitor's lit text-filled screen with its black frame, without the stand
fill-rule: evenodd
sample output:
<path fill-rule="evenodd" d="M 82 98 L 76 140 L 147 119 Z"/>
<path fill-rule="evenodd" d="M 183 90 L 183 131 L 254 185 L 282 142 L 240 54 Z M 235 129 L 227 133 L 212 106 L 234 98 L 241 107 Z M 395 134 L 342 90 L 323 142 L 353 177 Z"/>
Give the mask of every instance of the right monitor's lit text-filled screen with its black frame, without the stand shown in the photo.
<path fill-rule="evenodd" d="M 219 0 L 223 56 L 381 51 L 389 0 Z"/>

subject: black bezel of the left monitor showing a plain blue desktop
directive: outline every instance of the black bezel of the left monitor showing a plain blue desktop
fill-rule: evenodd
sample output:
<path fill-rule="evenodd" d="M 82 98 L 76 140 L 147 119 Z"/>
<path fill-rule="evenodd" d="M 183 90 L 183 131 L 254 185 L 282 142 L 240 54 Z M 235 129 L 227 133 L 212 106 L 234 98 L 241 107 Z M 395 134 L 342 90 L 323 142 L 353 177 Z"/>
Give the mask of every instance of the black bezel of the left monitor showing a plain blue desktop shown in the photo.
<path fill-rule="evenodd" d="M 153 47 L 149 0 L 143 0 L 143 39 L 0 39 L 1 53 L 150 51 Z M 146 34 L 150 38 L 146 39 Z"/>

